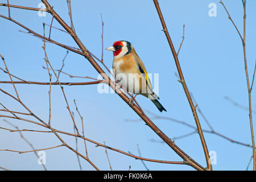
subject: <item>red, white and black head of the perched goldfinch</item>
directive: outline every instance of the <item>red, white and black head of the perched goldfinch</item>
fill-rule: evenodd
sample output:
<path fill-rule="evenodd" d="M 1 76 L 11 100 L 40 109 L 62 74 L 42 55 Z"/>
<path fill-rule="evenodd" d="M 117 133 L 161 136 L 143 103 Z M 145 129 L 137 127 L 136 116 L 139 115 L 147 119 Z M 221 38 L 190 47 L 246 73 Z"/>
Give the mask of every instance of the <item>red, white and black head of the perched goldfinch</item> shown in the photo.
<path fill-rule="evenodd" d="M 113 51 L 114 58 L 122 57 L 131 52 L 133 46 L 130 42 L 119 40 L 114 42 L 113 46 L 106 48 L 106 50 Z"/>

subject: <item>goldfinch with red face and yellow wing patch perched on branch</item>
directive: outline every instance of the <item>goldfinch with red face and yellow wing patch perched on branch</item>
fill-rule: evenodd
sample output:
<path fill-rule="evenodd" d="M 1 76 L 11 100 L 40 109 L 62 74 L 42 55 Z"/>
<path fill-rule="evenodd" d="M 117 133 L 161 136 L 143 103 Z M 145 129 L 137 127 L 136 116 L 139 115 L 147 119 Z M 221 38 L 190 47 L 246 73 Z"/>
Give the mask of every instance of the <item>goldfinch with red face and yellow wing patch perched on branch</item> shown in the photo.
<path fill-rule="evenodd" d="M 149 98 L 160 112 L 167 111 L 158 101 L 159 97 L 154 93 L 146 68 L 133 45 L 128 41 L 119 40 L 106 50 L 113 51 L 112 68 L 118 85 L 135 94 L 135 97 L 141 94 Z"/>

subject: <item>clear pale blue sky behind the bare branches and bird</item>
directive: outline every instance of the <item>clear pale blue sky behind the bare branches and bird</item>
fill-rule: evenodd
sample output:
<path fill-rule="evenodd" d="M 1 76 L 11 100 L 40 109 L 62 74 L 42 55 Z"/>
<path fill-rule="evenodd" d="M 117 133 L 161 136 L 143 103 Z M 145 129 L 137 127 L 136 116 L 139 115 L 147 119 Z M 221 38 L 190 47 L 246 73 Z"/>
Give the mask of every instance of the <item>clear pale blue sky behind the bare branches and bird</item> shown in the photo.
<path fill-rule="evenodd" d="M 6 3 L 7 1 L 0 1 Z M 10 4 L 38 7 L 40 1 L 9 1 Z M 243 9 L 241 1 L 223 1 L 234 22 L 242 33 Z M 49 1 L 55 11 L 69 24 L 66 1 Z M 209 3 L 216 3 L 217 16 L 210 17 Z M 208 119 L 213 129 L 239 142 L 251 144 L 249 112 L 234 106 L 225 97 L 246 106 L 247 86 L 243 63 L 241 40 L 228 19 L 224 8 L 216 0 L 201 1 L 159 1 L 164 19 L 176 50 L 179 48 L 185 24 L 185 40 L 179 53 L 181 69 L 189 90 Z M 246 52 L 250 82 L 255 65 L 256 48 L 256 12 L 255 1 L 247 2 Z M 6 7 L 0 6 L 0 14 L 8 15 Z M 162 117 L 179 119 L 196 126 L 184 90 L 175 76 L 176 65 L 162 30 L 158 14 L 152 1 L 77 1 L 72 0 L 72 15 L 75 30 L 80 40 L 94 55 L 101 56 L 101 16 L 104 19 L 104 47 L 112 46 L 117 40 L 128 40 L 135 47 L 143 60 L 148 73 L 159 73 L 159 97 L 167 113 L 159 113 L 150 100 L 137 96 L 137 101 L 144 110 Z M 51 15 L 38 16 L 36 11 L 11 9 L 11 17 L 32 30 L 43 34 L 42 23 L 51 23 Z M 27 81 L 48 81 L 45 66 L 42 40 L 19 32 L 23 30 L 9 20 L 0 18 L 1 44 L 0 53 L 5 56 L 9 71 Z M 53 26 L 60 25 L 53 21 Z M 47 33 L 48 33 L 48 28 Z M 23 30 L 24 31 L 24 30 Z M 65 34 L 53 29 L 51 38 L 57 42 L 76 46 L 75 42 Z M 53 68 L 60 69 L 66 50 L 47 43 L 47 54 Z M 112 52 L 104 50 L 104 63 L 111 68 Z M 4 68 L 3 63 L 0 67 Z M 98 73 L 89 61 L 76 53 L 69 52 L 65 59 L 64 72 L 77 76 L 97 78 Z M 8 75 L 0 72 L 1 81 L 9 81 Z M 53 77 L 53 81 L 56 78 Z M 61 75 L 63 82 L 89 81 L 81 78 L 69 78 Z M 15 94 L 12 85 L 0 84 L 0 88 Z M 48 86 L 16 85 L 20 98 L 40 118 L 48 119 Z M 99 94 L 97 85 L 64 86 L 71 109 L 75 111 L 73 100 L 76 99 L 81 115 L 84 117 L 86 137 L 138 155 L 137 143 L 142 156 L 159 160 L 181 161 L 180 157 L 167 144 L 151 142 L 160 138 L 144 125 L 144 122 L 129 122 L 126 119 L 139 119 L 138 115 L 126 105 L 116 94 Z M 0 93 L 1 103 L 10 110 L 24 109 L 5 94 Z M 252 93 L 252 105 L 255 108 L 255 91 Z M 3 112 L 1 112 L 3 114 Z M 150 115 L 149 115 L 150 116 Z M 79 116 L 75 119 L 81 129 Z M 209 130 L 207 123 L 199 114 L 203 129 Z M 253 121 L 255 126 L 255 114 Z M 38 129 L 30 123 L 8 119 L 20 129 Z M 153 119 L 154 123 L 174 138 L 193 131 L 192 129 L 164 119 Z M 0 118 L 0 127 L 8 127 Z M 73 133 L 73 125 L 66 109 L 65 101 L 59 86 L 52 86 L 52 126 L 59 130 Z M 254 127 L 255 130 L 255 127 Z M 24 132 L 35 148 L 57 146 L 60 141 L 53 134 Z M 252 150 L 249 147 L 232 143 L 214 134 L 204 133 L 209 151 L 217 154 L 216 170 L 245 170 Z M 19 151 L 31 150 L 18 133 L 1 130 L 0 149 Z M 68 144 L 75 147 L 75 139 L 61 135 Z M 105 149 L 88 143 L 89 158 L 101 170 L 108 170 L 109 164 Z M 204 152 L 199 135 L 175 140 L 177 146 L 189 156 L 205 166 Z M 79 151 L 84 152 L 83 141 L 79 140 Z M 108 150 L 110 162 L 114 170 L 144 170 L 139 160 Z M 2 151 L 1 167 L 12 170 L 42 170 L 33 153 L 15 154 Z M 151 170 L 192 170 L 188 166 L 145 162 Z M 82 169 L 92 170 L 89 163 L 81 159 Z M 76 155 L 68 148 L 46 150 L 46 167 L 49 170 L 79 170 Z M 250 169 L 252 166 L 250 165 Z"/>

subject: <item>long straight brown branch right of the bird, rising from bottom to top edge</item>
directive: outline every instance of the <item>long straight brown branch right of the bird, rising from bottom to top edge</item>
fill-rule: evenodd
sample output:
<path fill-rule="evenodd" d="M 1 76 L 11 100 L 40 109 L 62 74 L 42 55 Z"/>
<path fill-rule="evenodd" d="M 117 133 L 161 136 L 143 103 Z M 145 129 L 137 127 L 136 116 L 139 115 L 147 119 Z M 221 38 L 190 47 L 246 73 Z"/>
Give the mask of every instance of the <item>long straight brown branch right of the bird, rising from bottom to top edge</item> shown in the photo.
<path fill-rule="evenodd" d="M 170 34 L 169 34 L 168 30 L 167 30 L 166 23 L 164 22 L 163 14 L 162 14 L 162 12 L 160 10 L 159 3 L 158 3 L 157 0 L 153 0 L 153 1 L 154 1 L 154 4 L 155 4 L 155 7 L 156 7 L 156 11 L 158 12 L 160 21 L 162 23 L 164 34 L 166 35 L 166 38 L 167 38 L 168 43 L 169 43 L 169 46 L 171 48 L 172 55 L 174 56 L 175 64 L 176 64 L 176 67 L 177 67 L 177 72 L 179 73 L 179 77 L 180 77 L 180 82 L 181 82 L 181 84 L 183 86 L 183 89 L 184 89 L 184 92 L 185 92 L 185 94 L 187 96 L 189 105 L 190 105 L 192 113 L 193 113 L 193 117 L 195 118 L 197 130 L 198 130 L 198 133 L 199 133 L 199 136 L 200 136 L 201 143 L 203 145 L 205 159 L 206 159 L 206 162 L 207 162 L 207 169 L 208 170 L 212 170 L 212 164 L 210 163 L 210 156 L 209 156 L 209 152 L 208 152 L 208 148 L 207 148 L 207 143 L 205 142 L 204 134 L 203 134 L 203 131 L 202 131 L 201 125 L 200 125 L 200 121 L 199 121 L 199 118 L 197 116 L 196 106 L 194 106 L 193 101 L 191 99 L 191 96 L 189 94 L 187 85 L 185 84 L 185 79 L 184 79 L 183 73 L 181 71 L 179 59 L 177 57 L 177 53 L 175 51 L 174 45 L 172 44 L 172 40 L 171 40 Z"/>

